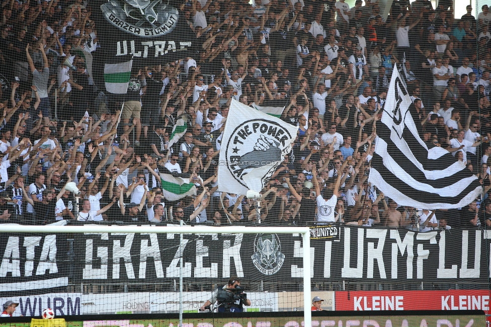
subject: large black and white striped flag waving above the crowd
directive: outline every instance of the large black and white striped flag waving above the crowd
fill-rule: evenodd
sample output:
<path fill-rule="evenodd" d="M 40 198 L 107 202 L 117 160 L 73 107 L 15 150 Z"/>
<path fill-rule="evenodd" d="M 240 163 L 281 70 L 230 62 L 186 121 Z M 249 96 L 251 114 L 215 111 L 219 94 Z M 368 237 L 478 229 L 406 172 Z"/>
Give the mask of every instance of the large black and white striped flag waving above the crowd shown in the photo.
<path fill-rule="evenodd" d="M 477 177 L 447 150 L 428 149 L 418 135 L 411 103 L 394 67 L 382 118 L 377 121 L 368 181 L 399 205 L 433 210 L 469 204 L 482 190 Z"/>

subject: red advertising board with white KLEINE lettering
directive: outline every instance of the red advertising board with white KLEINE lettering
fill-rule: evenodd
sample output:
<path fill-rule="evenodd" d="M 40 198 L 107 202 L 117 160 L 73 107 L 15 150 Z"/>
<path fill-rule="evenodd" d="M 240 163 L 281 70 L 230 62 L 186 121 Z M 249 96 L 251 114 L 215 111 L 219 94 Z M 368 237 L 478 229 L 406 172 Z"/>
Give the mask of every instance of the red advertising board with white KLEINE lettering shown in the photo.
<path fill-rule="evenodd" d="M 336 310 L 483 310 L 490 313 L 491 291 L 350 291 L 336 292 Z"/>

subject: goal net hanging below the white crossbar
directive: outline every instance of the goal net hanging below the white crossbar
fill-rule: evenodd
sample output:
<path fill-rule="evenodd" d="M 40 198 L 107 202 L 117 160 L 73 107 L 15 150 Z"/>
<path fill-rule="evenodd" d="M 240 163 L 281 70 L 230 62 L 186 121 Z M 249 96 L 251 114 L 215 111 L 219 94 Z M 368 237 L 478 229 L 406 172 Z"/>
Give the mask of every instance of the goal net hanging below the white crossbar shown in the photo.
<path fill-rule="evenodd" d="M 14 298 L 18 315 L 199 312 L 215 289 L 238 280 L 243 290 L 226 292 L 232 300 L 220 292 L 206 311 L 238 299 L 250 301 L 244 312 L 310 313 L 307 228 L 3 228 L 1 271 L 20 278 L 2 284 L 0 298 Z"/>

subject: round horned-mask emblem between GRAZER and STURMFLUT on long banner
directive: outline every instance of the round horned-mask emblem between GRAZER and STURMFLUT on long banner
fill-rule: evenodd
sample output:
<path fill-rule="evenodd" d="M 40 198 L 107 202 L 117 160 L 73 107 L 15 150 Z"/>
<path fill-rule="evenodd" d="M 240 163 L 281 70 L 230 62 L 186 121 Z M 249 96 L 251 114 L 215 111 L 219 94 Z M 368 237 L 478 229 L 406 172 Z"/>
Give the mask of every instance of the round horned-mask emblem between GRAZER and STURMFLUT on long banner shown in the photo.
<path fill-rule="evenodd" d="M 276 234 L 258 234 L 254 240 L 253 263 L 264 275 L 276 274 L 285 261 L 281 243 Z"/>

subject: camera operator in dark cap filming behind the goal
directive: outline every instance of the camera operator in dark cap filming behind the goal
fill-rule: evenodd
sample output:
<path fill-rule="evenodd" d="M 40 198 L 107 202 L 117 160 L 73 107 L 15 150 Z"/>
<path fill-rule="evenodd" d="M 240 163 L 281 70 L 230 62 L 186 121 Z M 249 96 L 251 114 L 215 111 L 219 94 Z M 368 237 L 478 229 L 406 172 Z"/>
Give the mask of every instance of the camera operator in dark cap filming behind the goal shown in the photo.
<path fill-rule="evenodd" d="M 230 277 L 228 284 L 222 289 L 215 289 L 211 299 L 200 307 L 200 311 L 208 309 L 216 302 L 218 302 L 218 312 L 242 312 L 243 305 L 251 305 L 251 300 L 247 298 L 247 294 L 240 286 L 240 279 L 236 276 Z"/>

